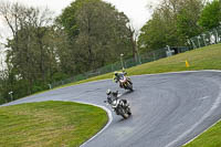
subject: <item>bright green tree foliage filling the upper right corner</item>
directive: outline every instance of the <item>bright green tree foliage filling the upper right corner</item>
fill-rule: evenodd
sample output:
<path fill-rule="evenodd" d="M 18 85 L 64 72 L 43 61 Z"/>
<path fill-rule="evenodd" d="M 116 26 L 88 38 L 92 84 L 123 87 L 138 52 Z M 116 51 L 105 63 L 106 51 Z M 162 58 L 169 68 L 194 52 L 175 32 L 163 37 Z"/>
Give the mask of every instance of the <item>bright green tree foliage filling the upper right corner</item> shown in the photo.
<path fill-rule="evenodd" d="M 207 3 L 199 19 L 199 24 L 206 30 L 211 30 L 221 24 L 221 2 L 219 0 Z"/>

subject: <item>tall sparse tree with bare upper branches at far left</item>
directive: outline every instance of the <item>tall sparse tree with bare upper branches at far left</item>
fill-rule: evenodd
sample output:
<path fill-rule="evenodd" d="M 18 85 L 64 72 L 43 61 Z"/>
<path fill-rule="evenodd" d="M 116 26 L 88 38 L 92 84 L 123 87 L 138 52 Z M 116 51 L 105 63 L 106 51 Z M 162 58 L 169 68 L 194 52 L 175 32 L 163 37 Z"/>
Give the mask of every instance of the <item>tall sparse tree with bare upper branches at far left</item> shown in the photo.
<path fill-rule="evenodd" d="M 51 12 L 19 3 L 0 3 L 0 15 L 12 32 L 6 60 L 9 90 L 14 97 L 43 90 L 56 71 Z"/>

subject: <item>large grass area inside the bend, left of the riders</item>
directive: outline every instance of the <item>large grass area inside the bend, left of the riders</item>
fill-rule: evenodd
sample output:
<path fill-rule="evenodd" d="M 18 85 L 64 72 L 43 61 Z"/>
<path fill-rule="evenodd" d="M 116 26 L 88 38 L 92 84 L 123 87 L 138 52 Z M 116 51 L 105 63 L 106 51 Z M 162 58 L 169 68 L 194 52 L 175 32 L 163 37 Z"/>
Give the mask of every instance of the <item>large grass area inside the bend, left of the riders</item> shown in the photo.
<path fill-rule="evenodd" d="M 76 147 L 107 123 L 97 107 L 41 102 L 0 107 L 1 147 Z"/>

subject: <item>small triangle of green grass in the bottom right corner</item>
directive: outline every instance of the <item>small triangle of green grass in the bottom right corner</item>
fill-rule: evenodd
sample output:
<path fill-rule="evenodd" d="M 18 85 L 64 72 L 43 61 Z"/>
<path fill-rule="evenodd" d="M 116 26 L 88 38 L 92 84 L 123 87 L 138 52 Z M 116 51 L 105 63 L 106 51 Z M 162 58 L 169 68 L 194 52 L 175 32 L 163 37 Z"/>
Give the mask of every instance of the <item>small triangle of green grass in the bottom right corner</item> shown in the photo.
<path fill-rule="evenodd" d="M 183 147 L 221 147 L 221 122 Z"/>

